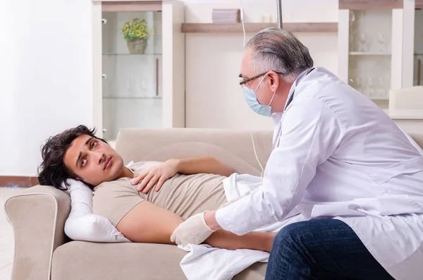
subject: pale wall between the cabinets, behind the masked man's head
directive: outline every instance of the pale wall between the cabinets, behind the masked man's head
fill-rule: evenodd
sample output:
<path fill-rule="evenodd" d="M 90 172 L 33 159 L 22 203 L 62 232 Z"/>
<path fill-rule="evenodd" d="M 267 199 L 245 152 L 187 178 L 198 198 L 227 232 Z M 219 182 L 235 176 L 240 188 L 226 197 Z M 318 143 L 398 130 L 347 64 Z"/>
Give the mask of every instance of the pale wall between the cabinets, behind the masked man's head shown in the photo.
<path fill-rule="evenodd" d="M 185 0 L 185 22 L 211 23 L 213 8 L 239 8 L 240 0 Z M 246 22 L 276 20 L 276 0 L 243 0 Z M 284 0 L 283 22 L 338 22 L 338 0 Z M 247 34 L 249 39 L 253 34 Z M 315 66 L 338 68 L 336 33 L 299 33 Z M 190 128 L 271 129 L 269 118 L 253 113 L 243 99 L 239 68 L 242 34 L 186 35 L 186 126 Z"/>

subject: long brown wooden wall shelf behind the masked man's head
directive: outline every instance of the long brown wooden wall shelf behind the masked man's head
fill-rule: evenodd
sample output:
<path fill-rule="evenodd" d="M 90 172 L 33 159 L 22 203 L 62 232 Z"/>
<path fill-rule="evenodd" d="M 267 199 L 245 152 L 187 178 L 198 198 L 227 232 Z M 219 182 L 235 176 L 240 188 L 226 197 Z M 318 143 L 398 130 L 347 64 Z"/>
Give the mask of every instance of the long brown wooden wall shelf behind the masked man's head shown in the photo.
<path fill-rule="evenodd" d="M 264 28 L 277 28 L 277 23 L 245 23 L 245 32 L 259 32 Z M 243 32 L 241 23 L 183 23 L 185 33 Z M 283 23 L 283 30 L 290 32 L 338 32 L 338 23 Z"/>

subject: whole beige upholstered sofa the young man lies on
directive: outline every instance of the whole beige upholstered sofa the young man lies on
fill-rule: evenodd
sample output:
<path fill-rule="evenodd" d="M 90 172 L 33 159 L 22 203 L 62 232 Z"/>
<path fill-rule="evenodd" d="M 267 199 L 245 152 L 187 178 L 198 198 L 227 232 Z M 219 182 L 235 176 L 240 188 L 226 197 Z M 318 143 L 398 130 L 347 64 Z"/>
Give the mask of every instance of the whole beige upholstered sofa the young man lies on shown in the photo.
<path fill-rule="evenodd" d="M 254 138 L 264 165 L 271 150 L 271 132 L 255 132 Z M 116 150 L 125 164 L 210 155 L 238 173 L 260 174 L 248 131 L 124 129 Z M 69 241 L 63 226 L 70 207 L 67 193 L 44 185 L 6 202 L 16 239 L 13 280 L 185 279 L 179 267 L 185 252 L 175 245 Z M 265 270 L 266 264 L 253 264 L 234 279 L 264 279 Z"/>

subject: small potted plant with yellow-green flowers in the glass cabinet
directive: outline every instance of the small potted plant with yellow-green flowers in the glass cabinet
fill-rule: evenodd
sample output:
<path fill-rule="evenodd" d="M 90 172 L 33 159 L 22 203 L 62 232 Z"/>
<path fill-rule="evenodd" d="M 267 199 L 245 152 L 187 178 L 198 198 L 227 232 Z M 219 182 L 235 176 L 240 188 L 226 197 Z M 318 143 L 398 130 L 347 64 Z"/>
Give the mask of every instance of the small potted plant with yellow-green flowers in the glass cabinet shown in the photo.
<path fill-rule="evenodd" d="M 147 48 L 147 20 L 134 18 L 132 22 L 127 22 L 121 29 L 123 39 L 126 40 L 130 54 L 144 54 Z"/>

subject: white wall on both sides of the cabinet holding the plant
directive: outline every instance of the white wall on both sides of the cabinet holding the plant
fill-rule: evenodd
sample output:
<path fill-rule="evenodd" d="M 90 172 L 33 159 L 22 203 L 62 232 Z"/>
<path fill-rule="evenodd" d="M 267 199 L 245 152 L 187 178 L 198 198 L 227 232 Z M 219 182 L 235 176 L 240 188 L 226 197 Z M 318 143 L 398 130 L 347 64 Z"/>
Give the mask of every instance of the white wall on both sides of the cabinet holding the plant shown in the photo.
<path fill-rule="evenodd" d="M 212 8 L 239 0 L 185 0 L 187 22 L 211 22 Z M 284 0 L 284 21 L 338 20 L 337 0 Z M 243 0 L 246 21 L 276 18 L 276 1 Z M 35 176 L 50 136 L 92 126 L 90 0 L 0 1 L 0 176 Z M 250 35 L 249 35 L 250 36 Z M 334 34 L 299 35 L 316 65 L 336 72 Z M 186 36 L 187 126 L 271 128 L 250 114 L 238 85 L 240 35 Z"/>

